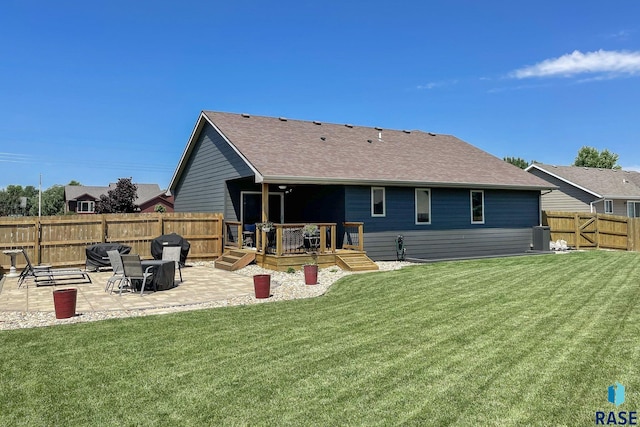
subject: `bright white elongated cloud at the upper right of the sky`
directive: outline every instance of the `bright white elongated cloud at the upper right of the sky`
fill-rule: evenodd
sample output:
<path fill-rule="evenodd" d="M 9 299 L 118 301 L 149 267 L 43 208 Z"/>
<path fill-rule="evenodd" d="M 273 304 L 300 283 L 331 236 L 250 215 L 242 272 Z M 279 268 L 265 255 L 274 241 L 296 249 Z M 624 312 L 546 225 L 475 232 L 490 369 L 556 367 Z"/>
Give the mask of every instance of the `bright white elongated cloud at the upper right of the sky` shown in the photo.
<path fill-rule="evenodd" d="M 520 68 L 510 77 L 571 77 L 576 74 L 636 75 L 640 74 L 640 52 L 606 51 L 582 53 L 578 50 L 559 58 L 546 59 Z"/>

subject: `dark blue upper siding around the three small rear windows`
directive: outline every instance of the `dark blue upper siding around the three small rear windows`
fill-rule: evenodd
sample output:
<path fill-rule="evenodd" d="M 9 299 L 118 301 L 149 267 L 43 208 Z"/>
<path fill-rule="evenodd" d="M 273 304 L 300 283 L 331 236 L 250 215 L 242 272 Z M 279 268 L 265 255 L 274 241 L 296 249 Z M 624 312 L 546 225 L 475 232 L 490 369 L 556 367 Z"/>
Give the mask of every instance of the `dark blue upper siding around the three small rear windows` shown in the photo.
<path fill-rule="evenodd" d="M 484 190 L 485 223 L 471 224 L 470 190 L 431 188 L 431 224 L 415 224 L 415 188 L 386 187 L 386 216 L 371 216 L 371 187 L 346 188 L 347 221 L 365 223 L 367 233 L 393 230 L 523 228 L 539 222 L 539 192 Z"/>

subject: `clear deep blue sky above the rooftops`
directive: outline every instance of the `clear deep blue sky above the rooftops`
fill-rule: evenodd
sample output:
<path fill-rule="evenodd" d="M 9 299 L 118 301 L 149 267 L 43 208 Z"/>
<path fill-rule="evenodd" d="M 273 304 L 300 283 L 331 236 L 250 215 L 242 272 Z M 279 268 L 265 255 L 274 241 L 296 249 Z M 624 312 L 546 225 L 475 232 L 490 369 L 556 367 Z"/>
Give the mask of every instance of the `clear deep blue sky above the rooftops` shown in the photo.
<path fill-rule="evenodd" d="M 0 188 L 165 188 L 201 110 L 561 165 L 586 145 L 640 170 L 639 17 L 637 0 L 3 0 Z"/>

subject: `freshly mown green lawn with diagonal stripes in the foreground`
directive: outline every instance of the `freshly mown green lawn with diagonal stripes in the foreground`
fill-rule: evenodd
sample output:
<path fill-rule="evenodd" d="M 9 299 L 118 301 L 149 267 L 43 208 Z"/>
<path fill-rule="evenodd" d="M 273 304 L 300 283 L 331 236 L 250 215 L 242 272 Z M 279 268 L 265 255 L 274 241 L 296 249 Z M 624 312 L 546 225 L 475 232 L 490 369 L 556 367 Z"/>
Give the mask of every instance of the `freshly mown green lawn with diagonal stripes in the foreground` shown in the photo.
<path fill-rule="evenodd" d="M 593 251 L 5 331 L 0 425 L 594 425 L 640 410 L 639 301 L 640 254 Z"/>

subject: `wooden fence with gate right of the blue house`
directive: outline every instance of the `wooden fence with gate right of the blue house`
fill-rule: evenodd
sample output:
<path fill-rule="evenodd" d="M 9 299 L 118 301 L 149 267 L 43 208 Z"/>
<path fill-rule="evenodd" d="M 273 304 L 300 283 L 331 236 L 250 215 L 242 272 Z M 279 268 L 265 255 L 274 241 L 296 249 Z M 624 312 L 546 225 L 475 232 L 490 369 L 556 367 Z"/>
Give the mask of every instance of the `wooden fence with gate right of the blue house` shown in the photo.
<path fill-rule="evenodd" d="M 640 218 L 544 211 L 542 223 L 549 226 L 551 240 L 565 240 L 576 249 L 640 251 Z"/>

